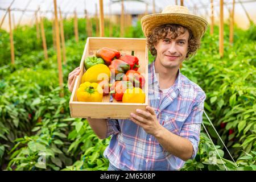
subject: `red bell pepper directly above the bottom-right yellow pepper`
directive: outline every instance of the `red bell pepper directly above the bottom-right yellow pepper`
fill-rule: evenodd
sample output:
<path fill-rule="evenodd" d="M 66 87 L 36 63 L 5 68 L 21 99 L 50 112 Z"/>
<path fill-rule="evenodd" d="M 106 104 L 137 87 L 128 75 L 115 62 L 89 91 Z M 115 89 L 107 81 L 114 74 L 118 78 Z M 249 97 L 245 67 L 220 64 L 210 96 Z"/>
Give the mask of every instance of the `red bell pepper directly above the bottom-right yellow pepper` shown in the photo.
<path fill-rule="evenodd" d="M 141 75 L 141 73 L 131 69 L 126 72 L 122 80 L 132 82 L 134 87 L 143 88 L 143 86 L 145 85 L 144 76 Z"/>

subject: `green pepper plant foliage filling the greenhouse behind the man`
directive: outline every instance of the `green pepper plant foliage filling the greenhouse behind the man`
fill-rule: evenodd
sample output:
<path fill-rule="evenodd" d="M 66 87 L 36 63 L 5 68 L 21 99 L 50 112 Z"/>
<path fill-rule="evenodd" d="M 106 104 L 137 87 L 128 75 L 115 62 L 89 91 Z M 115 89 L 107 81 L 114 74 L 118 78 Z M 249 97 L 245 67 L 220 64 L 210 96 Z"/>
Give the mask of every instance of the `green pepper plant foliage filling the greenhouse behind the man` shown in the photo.
<path fill-rule="evenodd" d="M 96 36 L 96 20 L 93 36 Z M 86 21 L 79 19 L 79 43 L 73 34 L 73 19 L 64 20 L 67 64 L 63 65 L 64 98 L 59 97 L 56 50 L 52 47 L 52 22 L 44 20 L 48 60 L 44 60 L 36 28 L 14 30 L 15 64 L 10 64 L 9 34 L 0 31 L 0 166 L 7 170 L 106 170 L 109 161 L 103 152 L 110 138 L 101 140 L 86 119 L 70 118 L 67 90 L 68 73 L 80 64 L 86 40 Z M 105 36 L 109 36 L 109 21 Z M 113 24 L 113 37 L 119 37 L 119 24 Z M 213 138 L 213 146 L 201 130 L 196 158 L 181 170 L 255 170 L 255 25 L 235 29 L 234 44 L 228 43 L 225 26 L 225 55 L 218 56 L 218 27 L 205 34 L 201 48 L 181 72 L 207 93 L 205 111 L 236 160 L 230 161 L 222 143 L 203 122 Z M 125 37 L 144 38 L 140 22 L 126 27 Z M 26 39 L 25 39 L 26 38 Z M 154 56 L 148 53 L 149 62 Z M 218 156 L 215 148 L 217 148 Z M 224 163 L 224 164 L 223 164 Z"/>

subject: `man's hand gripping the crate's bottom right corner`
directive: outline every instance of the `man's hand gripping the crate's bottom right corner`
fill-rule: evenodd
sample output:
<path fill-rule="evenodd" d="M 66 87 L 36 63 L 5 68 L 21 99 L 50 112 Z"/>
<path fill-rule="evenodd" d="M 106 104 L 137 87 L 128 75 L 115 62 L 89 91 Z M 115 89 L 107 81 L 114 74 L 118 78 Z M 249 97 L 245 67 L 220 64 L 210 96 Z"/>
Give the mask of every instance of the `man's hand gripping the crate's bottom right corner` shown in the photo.
<path fill-rule="evenodd" d="M 158 122 L 155 111 L 152 107 L 147 106 L 146 111 L 137 109 L 136 112 L 137 114 L 131 113 L 131 121 L 143 127 L 146 133 L 155 136 L 163 129 L 163 126 Z"/>

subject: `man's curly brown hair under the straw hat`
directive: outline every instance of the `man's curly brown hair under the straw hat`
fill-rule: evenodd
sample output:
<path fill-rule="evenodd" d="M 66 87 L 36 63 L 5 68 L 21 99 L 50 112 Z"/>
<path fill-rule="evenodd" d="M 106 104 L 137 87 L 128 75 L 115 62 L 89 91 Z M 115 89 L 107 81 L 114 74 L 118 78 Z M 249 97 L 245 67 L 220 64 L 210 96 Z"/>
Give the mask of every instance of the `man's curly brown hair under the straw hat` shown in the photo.
<path fill-rule="evenodd" d="M 180 36 L 185 33 L 185 31 L 189 32 L 188 38 L 188 53 L 186 55 L 186 59 L 189 56 L 196 53 L 196 50 L 200 47 L 200 40 L 197 40 L 193 37 L 191 30 L 187 27 L 183 27 L 180 24 L 163 24 L 154 28 L 152 34 L 147 37 L 147 46 L 150 49 L 150 52 L 153 56 L 156 56 L 156 49 L 154 45 L 159 43 L 159 40 L 165 39 L 167 36 L 171 36 L 172 39 L 175 39 L 177 36 Z"/>

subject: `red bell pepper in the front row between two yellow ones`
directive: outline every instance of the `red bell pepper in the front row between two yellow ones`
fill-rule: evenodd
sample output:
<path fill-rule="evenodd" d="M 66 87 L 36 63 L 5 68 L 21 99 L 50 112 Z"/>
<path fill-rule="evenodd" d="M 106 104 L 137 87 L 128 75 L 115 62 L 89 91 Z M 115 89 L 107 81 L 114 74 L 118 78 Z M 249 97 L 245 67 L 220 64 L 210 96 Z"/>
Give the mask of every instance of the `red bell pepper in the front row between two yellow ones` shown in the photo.
<path fill-rule="evenodd" d="M 112 90 L 110 93 L 113 94 L 113 97 L 117 101 L 122 101 L 123 93 L 125 93 L 126 89 L 133 88 L 133 84 L 130 81 L 115 81 L 111 86 Z"/>

